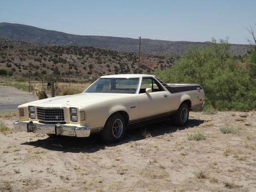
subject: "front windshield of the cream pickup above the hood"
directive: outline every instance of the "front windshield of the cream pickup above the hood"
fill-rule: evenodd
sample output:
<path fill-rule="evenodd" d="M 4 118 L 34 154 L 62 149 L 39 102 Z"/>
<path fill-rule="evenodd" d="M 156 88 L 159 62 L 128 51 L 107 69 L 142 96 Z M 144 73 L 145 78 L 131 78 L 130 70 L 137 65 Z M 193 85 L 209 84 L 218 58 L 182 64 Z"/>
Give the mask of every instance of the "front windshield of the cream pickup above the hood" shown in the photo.
<path fill-rule="evenodd" d="M 139 78 L 100 78 L 85 93 L 130 93 L 135 94 Z"/>

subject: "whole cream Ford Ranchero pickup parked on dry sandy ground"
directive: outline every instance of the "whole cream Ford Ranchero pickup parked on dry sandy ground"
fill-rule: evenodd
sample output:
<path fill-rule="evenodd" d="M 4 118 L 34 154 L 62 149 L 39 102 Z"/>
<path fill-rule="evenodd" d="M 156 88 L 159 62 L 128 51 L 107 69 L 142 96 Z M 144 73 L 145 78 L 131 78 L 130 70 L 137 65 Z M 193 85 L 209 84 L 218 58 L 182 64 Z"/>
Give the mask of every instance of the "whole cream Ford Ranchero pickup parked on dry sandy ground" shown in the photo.
<path fill-rule="evenodd" d="M 204 104 L 199 84 L 166 84 L 153 75 L 102 76 L 81 94 L 18 106 L 16 130 L 120 141 L 129 127 L 173 119 L 183 126 L 190 110 Z"/>

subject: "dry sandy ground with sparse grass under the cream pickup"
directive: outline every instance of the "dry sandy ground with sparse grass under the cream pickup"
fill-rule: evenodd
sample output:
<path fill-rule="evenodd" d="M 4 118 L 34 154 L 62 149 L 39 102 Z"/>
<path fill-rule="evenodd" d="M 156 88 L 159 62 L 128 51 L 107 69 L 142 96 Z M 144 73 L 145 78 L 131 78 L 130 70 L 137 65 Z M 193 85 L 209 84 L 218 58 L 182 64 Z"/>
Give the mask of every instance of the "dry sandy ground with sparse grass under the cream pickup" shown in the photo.
<path fill-rule="evenodd" d="M 3 119 L 10 128 L 15 119 Z M 256 112 L 190 113 L 105 145 L 90 138 L 0 133 L 0 191 L 256 191 Z M 223 134 L 221 127 L 236 130 Z M 188 140 L 201 133 L 205 140 Z"/>

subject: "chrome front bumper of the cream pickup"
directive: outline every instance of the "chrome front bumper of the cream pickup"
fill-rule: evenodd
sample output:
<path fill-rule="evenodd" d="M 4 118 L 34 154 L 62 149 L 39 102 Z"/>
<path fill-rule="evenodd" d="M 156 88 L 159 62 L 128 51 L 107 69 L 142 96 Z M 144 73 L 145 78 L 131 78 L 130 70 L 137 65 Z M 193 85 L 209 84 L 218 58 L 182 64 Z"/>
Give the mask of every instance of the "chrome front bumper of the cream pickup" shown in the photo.
<path fill-rule="evenodd" d="M 76 126 L 67 124 L 42 124 L 33 121 L 15 121 L 13 123 L 15 130 L 36 132 L 45 134 L 65 135 L 73 137 L 89 137 L 90 126 Z"/>

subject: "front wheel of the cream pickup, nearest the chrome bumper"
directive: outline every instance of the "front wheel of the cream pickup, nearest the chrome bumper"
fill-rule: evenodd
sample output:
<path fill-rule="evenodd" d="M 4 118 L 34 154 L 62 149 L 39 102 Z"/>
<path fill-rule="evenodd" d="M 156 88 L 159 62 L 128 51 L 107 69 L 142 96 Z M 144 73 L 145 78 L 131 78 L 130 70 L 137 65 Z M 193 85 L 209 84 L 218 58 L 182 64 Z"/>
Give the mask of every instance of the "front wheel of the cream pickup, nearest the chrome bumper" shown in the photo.
<path fill-rule="evenodd" d="M 126 129 L 124 118 L 121 114 L 115 113 L 106 121 L 101 137 L 106 143 L 121 141 Z"/>

